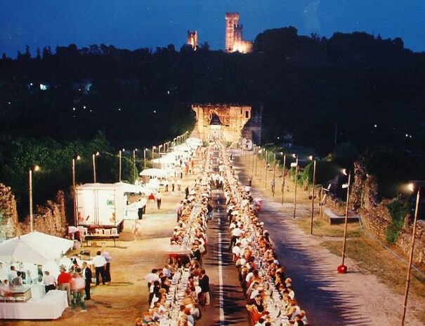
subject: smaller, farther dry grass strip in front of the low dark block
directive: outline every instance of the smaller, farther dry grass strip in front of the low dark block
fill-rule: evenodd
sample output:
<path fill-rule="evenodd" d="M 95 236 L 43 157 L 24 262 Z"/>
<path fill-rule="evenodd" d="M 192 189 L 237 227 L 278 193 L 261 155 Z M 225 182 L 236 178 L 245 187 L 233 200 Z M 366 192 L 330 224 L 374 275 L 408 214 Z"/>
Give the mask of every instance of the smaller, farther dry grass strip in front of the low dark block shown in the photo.
<path fill-rule="evenodd" d="M 310 219 L 301 218 L 296 219 L 295 223 L 301 230 L 306 233 L 310 233 Z M 330 237 L 342 237 L 344 236 L 344 224 L 329 224 L 324 219 L 315 219 L 313 224 L 313 235 L 315 236 L 330 236 Z M 362 230 L 358 223 L 348 223 L 347 236 L 348 238 L 356 238 L 362 235 Z"/>

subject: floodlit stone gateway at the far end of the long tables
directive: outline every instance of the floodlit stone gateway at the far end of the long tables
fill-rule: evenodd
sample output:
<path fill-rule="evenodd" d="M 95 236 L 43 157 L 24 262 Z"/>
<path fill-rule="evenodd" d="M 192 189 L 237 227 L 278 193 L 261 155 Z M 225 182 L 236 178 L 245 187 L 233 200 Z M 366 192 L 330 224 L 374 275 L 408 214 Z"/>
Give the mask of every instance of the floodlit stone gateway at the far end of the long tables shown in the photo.
<path fill-rule="evenodd" d="M 261 144 L 263 107 L 240 104 L 192 104 L 195 130 L 202 140 L 240 142 L 242 138 Z"/>

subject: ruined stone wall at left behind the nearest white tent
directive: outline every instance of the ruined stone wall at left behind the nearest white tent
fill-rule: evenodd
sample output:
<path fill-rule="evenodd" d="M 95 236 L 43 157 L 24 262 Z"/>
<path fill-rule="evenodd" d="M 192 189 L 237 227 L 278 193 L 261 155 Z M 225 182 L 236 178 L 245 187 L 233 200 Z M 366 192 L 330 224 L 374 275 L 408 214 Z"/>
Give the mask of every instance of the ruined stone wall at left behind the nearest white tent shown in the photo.
<path fill-rule="evenodd" d="M 52 236 L 65 235 L 65 195 L 58 191 L 55 201 L 47 201 L 45 205 L 34 209 L 34 231 L 51 234 Z M 18 222 L 15 196 L 10 187 L 0 184 L 0 231 L 6 238 L 13 238 L 30 232 L 30 216 L 23 222 Z"/>

